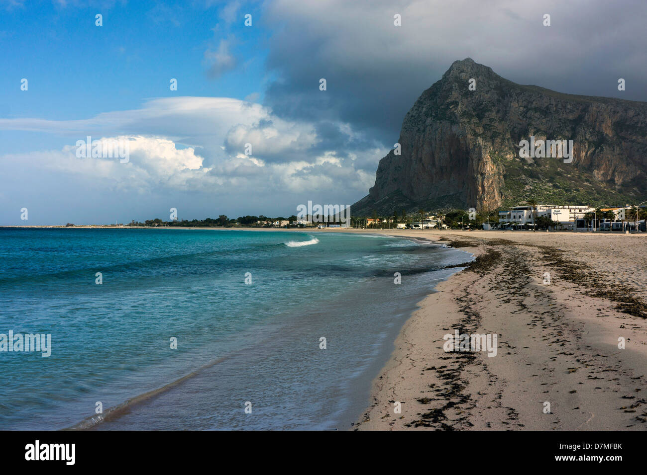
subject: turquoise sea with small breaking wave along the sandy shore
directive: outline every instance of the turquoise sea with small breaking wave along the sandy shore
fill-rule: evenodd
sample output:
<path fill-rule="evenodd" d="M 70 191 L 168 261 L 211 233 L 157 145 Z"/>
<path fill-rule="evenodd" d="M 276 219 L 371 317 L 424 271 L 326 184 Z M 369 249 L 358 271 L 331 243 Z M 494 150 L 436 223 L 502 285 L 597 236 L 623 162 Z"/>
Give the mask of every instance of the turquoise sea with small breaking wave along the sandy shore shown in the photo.
<path fill-rule="evenodd" d="M 0 352 L 0 430 L 351 428 L 417 302 L 469 260 L 326 231 L 1 228 L 0 333 L 52 348 Z"/>

